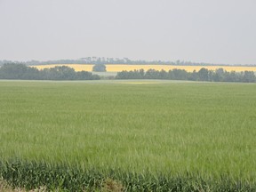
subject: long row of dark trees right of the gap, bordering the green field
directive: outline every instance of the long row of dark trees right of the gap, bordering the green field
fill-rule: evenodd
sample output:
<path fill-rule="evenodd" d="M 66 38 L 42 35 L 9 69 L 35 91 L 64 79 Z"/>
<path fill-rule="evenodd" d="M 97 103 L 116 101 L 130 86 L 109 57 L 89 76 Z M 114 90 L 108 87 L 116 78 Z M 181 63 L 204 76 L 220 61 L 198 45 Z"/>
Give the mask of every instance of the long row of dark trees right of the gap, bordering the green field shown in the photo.
<path fill-rule="evenodd" d="M 172 80 L 188 80 L 188 81 L 210 81 L 210 82 L 256 82 L 256 76 L 253 71 L 244 72 L 228 72 L 223 68 L 215 71 L 201 68 L 198 72 L 188 72 L 184 69 L 174 68 L 172 70 L 157 71 L 149 69 L 148 71 L 133 70 L 118 72 L 116 79 L 172 79 Z"/>

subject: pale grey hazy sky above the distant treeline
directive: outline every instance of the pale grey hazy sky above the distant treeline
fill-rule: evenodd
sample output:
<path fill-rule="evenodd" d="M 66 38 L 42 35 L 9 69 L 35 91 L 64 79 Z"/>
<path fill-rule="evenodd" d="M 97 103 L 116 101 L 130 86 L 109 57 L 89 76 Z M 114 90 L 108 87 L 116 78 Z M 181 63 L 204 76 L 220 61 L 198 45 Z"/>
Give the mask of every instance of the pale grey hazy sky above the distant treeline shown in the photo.
<path fill-rule="evenodd" d="M 0 60 L 256 64 L 256 0 L 0 0 Z"/>

